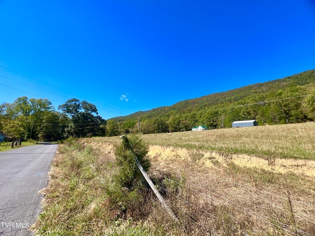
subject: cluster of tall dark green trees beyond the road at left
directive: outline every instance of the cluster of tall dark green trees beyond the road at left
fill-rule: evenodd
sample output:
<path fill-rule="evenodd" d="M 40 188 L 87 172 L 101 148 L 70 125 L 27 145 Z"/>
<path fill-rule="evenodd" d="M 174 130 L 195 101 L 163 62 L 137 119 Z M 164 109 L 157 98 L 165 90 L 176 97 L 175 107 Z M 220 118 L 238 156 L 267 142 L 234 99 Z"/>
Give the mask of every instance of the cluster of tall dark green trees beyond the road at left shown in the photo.
<path fill-rule="evenodd" d="M 72 98 L 56 111 L 48 99 L 18 97 L 0 105 L 0 130 L 22 140 L 58 141 L 106 135 L 94 104 Z"/>

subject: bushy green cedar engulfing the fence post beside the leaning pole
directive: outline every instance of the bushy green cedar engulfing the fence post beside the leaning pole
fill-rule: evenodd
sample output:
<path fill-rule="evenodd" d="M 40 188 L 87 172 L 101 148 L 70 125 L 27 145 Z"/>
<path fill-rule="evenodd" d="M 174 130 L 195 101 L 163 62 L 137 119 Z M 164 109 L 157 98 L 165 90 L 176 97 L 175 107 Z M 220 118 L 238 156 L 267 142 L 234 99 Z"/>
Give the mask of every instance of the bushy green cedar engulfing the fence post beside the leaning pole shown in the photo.
<path fill-rule="evenodd" d="M 137 166 L 136 159 L 145 171 L 151 163 L 147 158 L 148 146 L 142 142 L 139 135 L 123 137 L 121 145 L 115 149 L 118 171 L 113 177 L 113 184 L 106 188 L 108 205 L 117 209 L 117 215 L 130 215 L 133 213 L 143 215 L 147 211 L 143 207 L 148 200 L 145 181 Z M 119 217 L 119 216 L 118 216 Z"/>

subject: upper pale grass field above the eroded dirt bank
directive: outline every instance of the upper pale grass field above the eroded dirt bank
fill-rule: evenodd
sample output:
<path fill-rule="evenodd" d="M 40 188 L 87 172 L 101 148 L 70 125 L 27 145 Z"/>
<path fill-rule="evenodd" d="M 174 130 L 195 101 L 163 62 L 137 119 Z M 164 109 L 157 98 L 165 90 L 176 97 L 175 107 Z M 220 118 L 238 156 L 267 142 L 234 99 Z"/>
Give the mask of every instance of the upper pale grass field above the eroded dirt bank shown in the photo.
<path fill-rule="evenodd" d="M 172 146 L 265 158 L 315 160 L 315 123 L 266 125 L 142 135 L 149 145 Z M 117 144 L 118 137 L 87 141 Z"/>

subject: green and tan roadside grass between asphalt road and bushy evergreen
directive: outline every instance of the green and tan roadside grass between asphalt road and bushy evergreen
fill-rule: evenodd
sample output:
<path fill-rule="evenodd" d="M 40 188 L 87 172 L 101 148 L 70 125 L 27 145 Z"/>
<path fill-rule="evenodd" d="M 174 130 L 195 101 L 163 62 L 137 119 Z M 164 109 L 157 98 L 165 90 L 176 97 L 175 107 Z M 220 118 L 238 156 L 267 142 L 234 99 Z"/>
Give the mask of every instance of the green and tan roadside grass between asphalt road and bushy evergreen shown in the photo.
<path fill-rule="evenodd" d="M 43 212 L 32 229 L 41 236 L 167 235 L 163 229 L 142 224 L 148 209 L 158 206 L 151 194 L 120 196 L 122 191 L 113 180 L 117 171 L 112 149 L 93 148 L 76 140 L 61 144 L 49 184 L 41 191 L 46 195 Z"/>

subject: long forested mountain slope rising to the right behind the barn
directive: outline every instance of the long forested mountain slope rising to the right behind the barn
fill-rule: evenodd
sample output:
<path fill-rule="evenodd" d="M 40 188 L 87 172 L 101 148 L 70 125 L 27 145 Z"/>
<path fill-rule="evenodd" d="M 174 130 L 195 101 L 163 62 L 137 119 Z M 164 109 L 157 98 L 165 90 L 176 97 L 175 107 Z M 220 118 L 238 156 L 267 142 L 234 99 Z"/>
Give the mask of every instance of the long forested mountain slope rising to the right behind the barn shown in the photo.
<path fill-rule="evenodd" d="M 209 128 L 231 127 L 233 121 L 247 119 L 256 119 L 260 125 L 311 121 L 315 118 L 314 89 L 315 70 L 309 70 L 184 100 L 172 106 L 111 118 L 107 128 L 115 135 L 131 130 L 142 133 L 184 131 L 200 124 Z"/>

